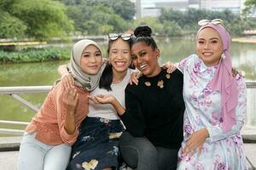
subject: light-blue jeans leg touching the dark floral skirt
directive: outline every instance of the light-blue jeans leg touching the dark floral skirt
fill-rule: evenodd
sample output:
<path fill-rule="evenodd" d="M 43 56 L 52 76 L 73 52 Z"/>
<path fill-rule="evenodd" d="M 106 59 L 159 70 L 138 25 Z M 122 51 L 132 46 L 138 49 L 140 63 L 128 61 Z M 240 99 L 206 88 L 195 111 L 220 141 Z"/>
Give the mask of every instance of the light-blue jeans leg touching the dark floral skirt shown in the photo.
<path fill-rule="evenodd" d="M 59 144 L 53 146 L 44 158 L 44 170 L 66 169 L 71 153 L 71 146 Z"/>

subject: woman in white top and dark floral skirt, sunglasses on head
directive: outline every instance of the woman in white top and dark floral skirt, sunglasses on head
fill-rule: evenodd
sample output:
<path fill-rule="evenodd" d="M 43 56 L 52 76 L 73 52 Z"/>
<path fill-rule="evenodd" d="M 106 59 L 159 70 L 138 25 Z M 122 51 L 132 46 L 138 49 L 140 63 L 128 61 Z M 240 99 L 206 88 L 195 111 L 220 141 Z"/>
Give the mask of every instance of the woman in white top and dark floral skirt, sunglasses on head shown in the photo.
<path fill-rule="evenodd" d="M 109 34 L 108 55 L 99 87 L 90 92 L 89 114 L 79 127 L 67 169 L 119 167 L 119 136 L 124 127 L 112 105 L 98 104 L 113 95 L 125 107 L 125 87 L 131 77 L 131 34 Z M 60 72 L 63 75 L 67 69 Z"/>

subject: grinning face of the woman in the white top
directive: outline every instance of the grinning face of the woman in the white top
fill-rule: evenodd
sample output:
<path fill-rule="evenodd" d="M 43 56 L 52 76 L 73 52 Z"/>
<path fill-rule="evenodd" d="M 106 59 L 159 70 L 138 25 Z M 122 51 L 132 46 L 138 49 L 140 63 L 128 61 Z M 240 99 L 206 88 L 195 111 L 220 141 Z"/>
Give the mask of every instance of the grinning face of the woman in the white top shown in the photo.
<path fill-rule="evenodd" d="M 123 73 L 131 65 L 131 48 L 129 43 L 121 38 L 112 42 L 108 55 L 115 72 Z"/>

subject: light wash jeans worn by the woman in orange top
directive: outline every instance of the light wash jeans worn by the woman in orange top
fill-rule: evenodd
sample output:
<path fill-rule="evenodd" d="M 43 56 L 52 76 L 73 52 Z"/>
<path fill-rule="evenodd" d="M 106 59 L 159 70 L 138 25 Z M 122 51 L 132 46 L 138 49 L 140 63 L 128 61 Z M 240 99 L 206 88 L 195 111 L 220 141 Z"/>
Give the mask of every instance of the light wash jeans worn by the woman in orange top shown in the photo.
<path fill-rule="evenodd" d="M 65 170 L 71 147 L 49 145 L 35 139 L 36 133 L 25 133 L 20 143 L 18 170 Z"/>

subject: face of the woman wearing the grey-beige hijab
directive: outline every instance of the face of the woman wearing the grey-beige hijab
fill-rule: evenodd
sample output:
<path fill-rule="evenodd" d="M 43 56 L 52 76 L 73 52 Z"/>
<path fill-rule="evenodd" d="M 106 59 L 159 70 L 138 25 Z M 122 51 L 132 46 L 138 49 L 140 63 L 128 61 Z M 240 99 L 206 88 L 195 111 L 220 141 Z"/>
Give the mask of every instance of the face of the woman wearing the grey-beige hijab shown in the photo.
<path fill-rule="evenodd" d="M 80 60 L 81 70 L 89 75 L 96 75 L 102 67 L 102 53 L 94 45 L 84 48 Z"/>

